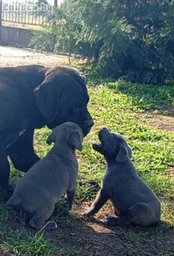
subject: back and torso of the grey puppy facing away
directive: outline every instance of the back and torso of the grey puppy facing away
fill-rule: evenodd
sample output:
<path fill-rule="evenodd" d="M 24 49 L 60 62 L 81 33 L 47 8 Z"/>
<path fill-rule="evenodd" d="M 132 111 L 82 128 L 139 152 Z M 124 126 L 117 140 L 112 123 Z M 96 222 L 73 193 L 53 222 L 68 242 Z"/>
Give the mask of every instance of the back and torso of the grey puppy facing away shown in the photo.
<path fill-rule="evenodd" d="M 37 162 L 18 181 L 14 194 L 8 201 L 13 208 L 22 207 L 32 213 L 45 207 L 46 201 L 55 204 L 69 186 L 69 168 L 61 156 L 49 154 Z"/>

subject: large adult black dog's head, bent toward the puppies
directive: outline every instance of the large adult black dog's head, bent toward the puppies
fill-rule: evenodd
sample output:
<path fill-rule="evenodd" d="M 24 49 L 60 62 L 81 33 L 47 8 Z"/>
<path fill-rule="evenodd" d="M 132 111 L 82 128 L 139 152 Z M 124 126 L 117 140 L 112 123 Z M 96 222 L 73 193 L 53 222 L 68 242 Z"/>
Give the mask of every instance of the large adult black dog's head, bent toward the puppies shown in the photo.
<path fill-rule="evenodd" d="M 53 129 L 65 122 L 77 123 L 86 136 L 94 122 L 87 110 L 89 96 L 84 77 L 75 69 L 49 69 L 45 80 L 35 89 L 37 107 Z"/>

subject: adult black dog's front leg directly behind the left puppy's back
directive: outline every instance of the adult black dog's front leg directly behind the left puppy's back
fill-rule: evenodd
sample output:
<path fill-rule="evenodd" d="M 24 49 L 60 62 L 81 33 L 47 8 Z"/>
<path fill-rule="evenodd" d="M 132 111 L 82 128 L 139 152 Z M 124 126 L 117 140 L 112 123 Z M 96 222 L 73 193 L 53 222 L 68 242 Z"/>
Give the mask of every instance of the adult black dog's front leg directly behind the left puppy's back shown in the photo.
<path fill-rule="evenodd" d="M 8 152 L 14 167 L 19 171 L 27 172 L 40 160 L 33 148 L 33 133 L 33 129 L 24 131 Z"/>

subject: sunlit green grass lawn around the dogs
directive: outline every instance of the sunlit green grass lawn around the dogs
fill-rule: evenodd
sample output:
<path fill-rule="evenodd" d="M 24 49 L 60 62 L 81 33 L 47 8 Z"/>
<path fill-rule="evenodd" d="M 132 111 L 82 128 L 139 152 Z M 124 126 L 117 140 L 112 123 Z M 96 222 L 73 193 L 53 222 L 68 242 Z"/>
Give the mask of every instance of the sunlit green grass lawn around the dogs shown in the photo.
<path fill-rule="evenodd" d="M 171 230 L 174 226 L 174 204 L 171 197 L 174 195 L 174 180 L 169 176 L 168 166 L 174 167 L 174 134 L 148 127 L 139 113 L 151 108 L 160 109 L 164 105 L 174 105 L 174 87 L 129 84 L 123 81 L 108 82 L 95 80 L 87 76 L 90 104 L 89 109 L 95 121 L 91 134 L 84 139 L 83 151 L 77 152 L 79 159 L 79 177 L 92 179 L 101 183 L 105 171 L 103 156 L 92 150 L 91 144 L 97 142 L 97 134 L 101 127 L 108 127 L 113 132 L 124 135 L 133 149 L 133 162 L 142 179 L 162 199 L 162 220 L 158 228 L 153 229 L 158 238 L 160 232 Z M 95 85 L 95 86 L 94 86 Z M 41 158 L 48 152 L 50 146 L 45 141 L 50 131 L 45 127 L 36 130 L 35 150 Z M 12 168 L 11 183 L 22 174 Z M 87 187 L 78 187 L 75 204 L 95 196 Z M 102 211 L 102 210 L 101 210 Z M 79 255 L 74 249 L 62 249 L 54 242 L 44 237 L 43 233 L 30 233 L 23 223 L 12 229 L 6 221 L 14 219 L 14 213 L 9 213 L 1 204 L 0 208 L 0 254 L 5 255 Z M 75 213 L 67 214 L 63 211 L 62 201 L 54 210 L 52 218 L 62 226 L 73 226 L 79 220 Z M 154 236 L 151 228 L 145 232 L 135 232 L 134 229 L 123 231 L 126 241 L 147 241 Z M 168 231 L 167 231 L 168 232 Z M 84 233 L 83 236 L 86 236 Z M 97 236 L 97 234 L 96 234 Z M 167 237 L 167 235 L 165 235 Z M 148 237 L 148 239 L 147 239 Z M 156 238 L 156 239 L 157 239 Z M 160 237 L 161 238 L 161 237 Z M 160 239 L 159 238 L 159 239 Z M 171 239 L 171 238 L 169 238 Z M 158 240 L 158 239 L 157 239 Z M 160 251 L 160 255 L 172 255 Z M 86 254 L 85 254 L 86 255 Z M 92 255 L 92 254 L 89 254 Z M 142 255 L 142 254 L 139 254 Z M 146 251 L 145 254 L 147 255 Z"/>

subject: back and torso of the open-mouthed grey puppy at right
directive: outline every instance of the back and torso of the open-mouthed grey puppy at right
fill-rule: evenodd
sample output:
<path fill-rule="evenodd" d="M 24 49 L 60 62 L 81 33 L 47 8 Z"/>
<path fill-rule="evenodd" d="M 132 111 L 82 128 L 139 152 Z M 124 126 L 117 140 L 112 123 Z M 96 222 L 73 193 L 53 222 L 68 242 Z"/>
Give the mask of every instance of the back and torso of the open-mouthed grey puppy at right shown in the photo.
<path fill-rule="evenodd" d="M 130 159 L 124 163 L 116 163 L 110 168 L 109 177 L 105 178 L 107 182 L 112 183 L 112 201 L 118 213 L 125 214 L 131 206 L 137 203 L 147 203 L 156 217 L 160 215 L 158 197 L 139 177 Z"/>

